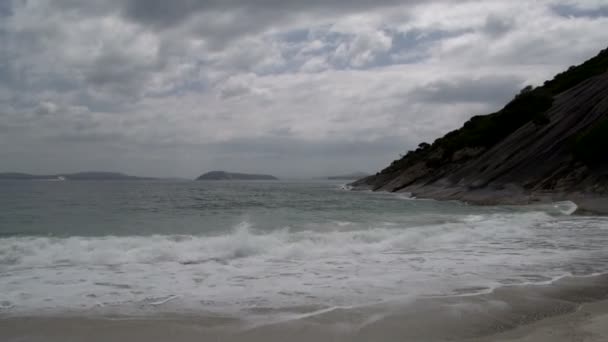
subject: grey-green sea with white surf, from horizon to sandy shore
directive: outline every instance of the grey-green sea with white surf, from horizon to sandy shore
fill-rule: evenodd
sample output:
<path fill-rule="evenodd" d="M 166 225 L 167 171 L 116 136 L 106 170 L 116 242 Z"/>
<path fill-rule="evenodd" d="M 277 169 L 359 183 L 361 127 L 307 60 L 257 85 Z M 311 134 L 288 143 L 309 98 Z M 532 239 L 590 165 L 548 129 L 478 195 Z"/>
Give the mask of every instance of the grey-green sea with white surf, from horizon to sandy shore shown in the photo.
<path fill-rule="evenodd" d="M 0 317 L 260 326 L 376 308 L 365 321 L 420 299 L 607 272 L 608 219 L 574 209 L 339 181 L 3 181 Z"/>

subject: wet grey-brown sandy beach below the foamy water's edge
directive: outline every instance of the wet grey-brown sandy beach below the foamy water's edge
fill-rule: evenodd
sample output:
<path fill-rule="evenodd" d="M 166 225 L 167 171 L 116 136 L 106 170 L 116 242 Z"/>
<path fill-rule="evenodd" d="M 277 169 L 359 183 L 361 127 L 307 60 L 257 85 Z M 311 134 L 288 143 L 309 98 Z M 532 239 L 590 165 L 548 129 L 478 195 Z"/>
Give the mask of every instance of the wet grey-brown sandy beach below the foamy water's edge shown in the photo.
<path fill-rule="evenodd" d="M 219 317 L 0 318 L 3 341 L 605 341 L 608 274 L 335 309 L 266 325 Z M 382 310 L 378 310 L 382 309 Z"/>

